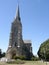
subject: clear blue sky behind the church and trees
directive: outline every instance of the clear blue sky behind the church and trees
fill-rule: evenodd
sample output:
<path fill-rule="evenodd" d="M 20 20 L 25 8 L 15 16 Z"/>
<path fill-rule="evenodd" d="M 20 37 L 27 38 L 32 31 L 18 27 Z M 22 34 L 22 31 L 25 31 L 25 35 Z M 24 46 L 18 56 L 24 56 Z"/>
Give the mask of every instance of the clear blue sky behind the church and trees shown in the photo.
<path fill-rule="evenodd" d="M 17 0 L 0 0 L 0 48 L 6 52 Z M 49 38 L 49 0 L 19 0 L 23 40 L 31 40 L 37 55 L 41 43 Z"/>

